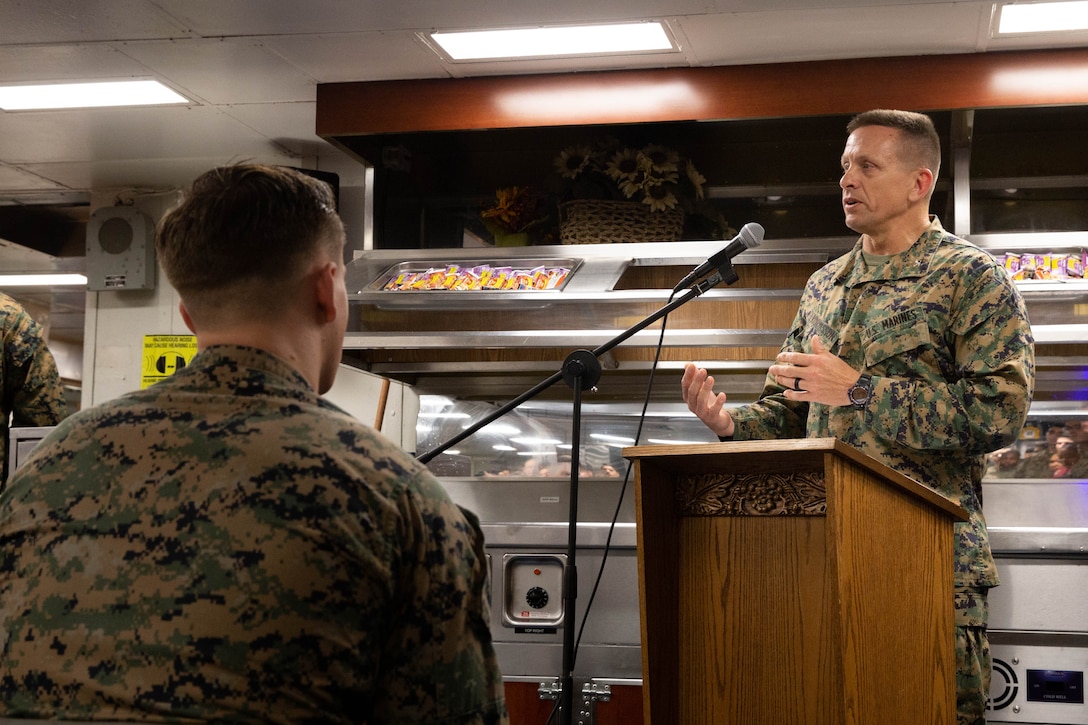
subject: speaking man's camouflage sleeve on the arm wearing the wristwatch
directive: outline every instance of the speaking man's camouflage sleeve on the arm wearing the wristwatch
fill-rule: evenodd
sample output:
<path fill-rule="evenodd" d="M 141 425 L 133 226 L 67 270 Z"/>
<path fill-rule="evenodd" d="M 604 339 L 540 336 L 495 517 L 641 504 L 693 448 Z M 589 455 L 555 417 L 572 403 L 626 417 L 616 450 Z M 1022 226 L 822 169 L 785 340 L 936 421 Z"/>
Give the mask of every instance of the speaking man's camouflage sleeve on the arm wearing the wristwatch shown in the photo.
<path fill-rule="evenodd" d="M 1035 341 L 1023 298 L 992 262 L 961 271 L 953 298 L 948 329 L 930 344 L 947 347 L 954 367 L 929 378 L 874 376 L 866 425 L 915 450 L 980 455 L 1015 441 L 1027 419 Z M 881 354 L 874 348 L 870 362 Z"/>

